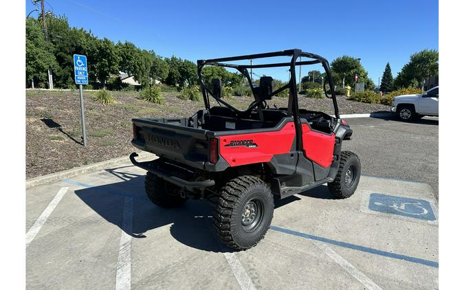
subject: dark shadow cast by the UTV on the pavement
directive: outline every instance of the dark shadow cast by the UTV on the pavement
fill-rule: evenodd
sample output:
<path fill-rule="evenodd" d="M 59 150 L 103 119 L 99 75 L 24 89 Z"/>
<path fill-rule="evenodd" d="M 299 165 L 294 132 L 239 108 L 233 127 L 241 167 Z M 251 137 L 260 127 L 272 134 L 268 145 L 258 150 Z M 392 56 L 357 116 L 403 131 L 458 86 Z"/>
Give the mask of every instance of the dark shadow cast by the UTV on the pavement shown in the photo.
<path fill-rule="evenodd" d="M 170 225 L 170 234 L 180 243 L 208 252 L 232 252 L 224 247 L 212 228 L 212 206 L 204 201 L 189 200 L 180 208 L 164 209 L 153 205 L 145 195 L 144 176 L 75 191 L 89 208 L 122 230 L 124 199 L 133 199 L 133 238 L 155 236 L 159 227 Z M 156 247 L 156 241 L 150 241 Z"/>

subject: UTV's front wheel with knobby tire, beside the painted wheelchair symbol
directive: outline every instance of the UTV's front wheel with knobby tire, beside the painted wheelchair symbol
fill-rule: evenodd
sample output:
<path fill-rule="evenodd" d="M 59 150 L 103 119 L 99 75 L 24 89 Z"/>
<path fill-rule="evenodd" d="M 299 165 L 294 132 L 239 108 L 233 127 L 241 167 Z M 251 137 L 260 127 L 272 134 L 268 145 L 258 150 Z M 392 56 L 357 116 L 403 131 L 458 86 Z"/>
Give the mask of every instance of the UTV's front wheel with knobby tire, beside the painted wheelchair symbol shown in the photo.
<path fill-rule="evenodd" d="M 327 183 L 327 186 L 335 197 L 346 199 L 355 193 L 360 177 L 360 158 L 351 151 L 342 151 L 337 176 L 332 182 Z"/>

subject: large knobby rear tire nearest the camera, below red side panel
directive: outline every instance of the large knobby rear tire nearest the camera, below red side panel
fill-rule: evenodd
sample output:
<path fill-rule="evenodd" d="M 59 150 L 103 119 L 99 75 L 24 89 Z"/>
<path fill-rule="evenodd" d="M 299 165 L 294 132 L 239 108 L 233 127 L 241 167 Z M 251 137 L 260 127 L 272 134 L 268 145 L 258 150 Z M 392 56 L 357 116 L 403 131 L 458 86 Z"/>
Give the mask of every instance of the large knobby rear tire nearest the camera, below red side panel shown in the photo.
<path fill-rule="evenodd" d="M 228 247 L 250 249 L 264 238 L 273 215 L 274 197 L 269 186 L 257 177 L 236 177 L 219 191 L 214 228 Z"/>

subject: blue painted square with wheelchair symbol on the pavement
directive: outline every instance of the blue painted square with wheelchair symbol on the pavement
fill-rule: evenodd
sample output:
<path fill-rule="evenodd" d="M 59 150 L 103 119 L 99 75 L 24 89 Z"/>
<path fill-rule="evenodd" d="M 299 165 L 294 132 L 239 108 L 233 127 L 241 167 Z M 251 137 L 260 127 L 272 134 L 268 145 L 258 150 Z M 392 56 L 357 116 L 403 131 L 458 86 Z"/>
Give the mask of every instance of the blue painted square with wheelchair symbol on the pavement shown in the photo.
<path fill-rule="evenodd" d="M 414 219 L 435 221 L 437 218 L 430 202 L 423 199 L 395 197 L 393 195 L 372 193 L 369 199 L 369 210 L 408 216 Z"/>

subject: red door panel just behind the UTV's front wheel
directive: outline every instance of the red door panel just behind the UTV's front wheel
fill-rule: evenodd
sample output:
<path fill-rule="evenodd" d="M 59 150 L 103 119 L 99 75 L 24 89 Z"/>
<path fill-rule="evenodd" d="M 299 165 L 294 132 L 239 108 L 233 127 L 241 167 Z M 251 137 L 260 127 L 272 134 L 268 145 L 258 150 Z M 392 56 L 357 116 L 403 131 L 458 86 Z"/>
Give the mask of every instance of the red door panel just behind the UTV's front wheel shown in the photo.
<path fill-rule="evenodd" d="M 320 166 L 331 166 L 335 134 L 331 135 L 313 131 L 308 124 L 301 124 L 303 152 L 307 159 L 311 159 Z"/>

